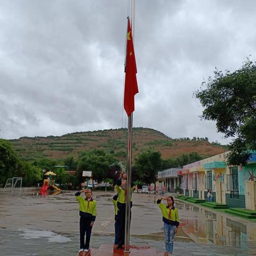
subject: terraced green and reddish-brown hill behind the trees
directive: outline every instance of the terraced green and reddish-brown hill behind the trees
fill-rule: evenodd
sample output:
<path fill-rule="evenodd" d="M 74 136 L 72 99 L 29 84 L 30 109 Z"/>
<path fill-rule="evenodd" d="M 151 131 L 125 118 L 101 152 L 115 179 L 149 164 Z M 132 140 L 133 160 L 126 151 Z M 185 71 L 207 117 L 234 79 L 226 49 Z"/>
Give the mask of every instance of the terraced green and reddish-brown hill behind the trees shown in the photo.
<path fill-rule="evenodd" d="M 34 160 L 41 157 L 63 159 L 77 155 L 81 150 L 103 149 L 125 161 L 127 129 L 110 129 L 92 132 L 75 132 L 62 136 L 21 137 L 10 140 L 22 159 Z M 197 152 L 208 157 L 227 151 L 221 145 L 213 145 L 206 139 L 172 139 L 162 132 L 149 128 L 133 129 L 133 157 L 147 148 L 161 152 L 164 159 Z"/>

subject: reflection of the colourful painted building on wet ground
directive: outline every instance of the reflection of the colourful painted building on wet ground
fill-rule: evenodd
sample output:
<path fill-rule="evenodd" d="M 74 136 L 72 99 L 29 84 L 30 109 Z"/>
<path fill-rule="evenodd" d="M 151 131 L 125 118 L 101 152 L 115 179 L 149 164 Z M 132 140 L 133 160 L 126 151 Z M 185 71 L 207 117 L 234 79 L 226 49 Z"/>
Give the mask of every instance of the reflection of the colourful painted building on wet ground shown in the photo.
<path fill-rule="evenodd" d="M 256 250 L 256 225 L 247 225 L 231 220 L 225 215 L 212 213 L 203 207 L 178 202 L 181 211 L 190 211 L 185 217 L 180 214 L 183 233 L 201 244 L 218 244 L 242 249 Z M 196 213 L 196 214 L 195 214 Z M 182 216 L 183 215 L 183 216 Z"/>

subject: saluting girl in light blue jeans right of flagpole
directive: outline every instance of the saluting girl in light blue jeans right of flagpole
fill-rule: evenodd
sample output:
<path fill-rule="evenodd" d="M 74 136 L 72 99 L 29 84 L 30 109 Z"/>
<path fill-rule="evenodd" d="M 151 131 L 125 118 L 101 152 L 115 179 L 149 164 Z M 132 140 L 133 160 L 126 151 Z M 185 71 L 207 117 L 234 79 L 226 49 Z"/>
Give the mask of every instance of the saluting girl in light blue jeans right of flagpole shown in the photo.
<path fill-rule="evenodd" d="M 162 199 L 167 200 L 167 205 L 161 203 Z M 165 255 L 172 255 L 174 235 L 179 227 L 179 212 L 174 207 L 174 199 L 172 196 L 164 196 L 157 200 L 157 205 L 162 211 L 164 222 L 164 243 Z"/>

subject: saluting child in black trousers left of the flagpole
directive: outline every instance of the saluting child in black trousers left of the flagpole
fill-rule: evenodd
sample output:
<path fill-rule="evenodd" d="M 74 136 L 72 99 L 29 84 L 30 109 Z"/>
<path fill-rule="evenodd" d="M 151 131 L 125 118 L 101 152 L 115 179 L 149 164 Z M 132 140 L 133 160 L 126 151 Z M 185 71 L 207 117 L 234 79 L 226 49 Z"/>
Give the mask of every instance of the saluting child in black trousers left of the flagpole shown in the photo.
<path fill-rule="evenodd" d="M 85 198 L 81 193 L 85 193 Z M 78 252 L 90 251 L 90 238 L 92 233 L 92 226 L 96 219 L 96 201 L 92 198 L 92 190 L 90 188 L 82 189 L 76 194 L 76 199 L 79 202 L 80 215 L 80 250 Z M 84 244 L 84 235 L 86 232 L 86 241 Z"/>

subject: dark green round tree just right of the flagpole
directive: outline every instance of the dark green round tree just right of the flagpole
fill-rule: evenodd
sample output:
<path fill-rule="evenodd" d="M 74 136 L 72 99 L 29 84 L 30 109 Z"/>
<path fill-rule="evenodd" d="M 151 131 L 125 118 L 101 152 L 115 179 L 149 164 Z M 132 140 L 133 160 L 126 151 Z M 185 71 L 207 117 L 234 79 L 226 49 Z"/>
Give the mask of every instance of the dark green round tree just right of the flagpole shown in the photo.
<path fill-rule="evenodd" d="M 162 156 L 158 151 L 148 149 L 135 158 L 135 170 L 139 180 L 146 184 L 155 182 L 155 175 L 162 167 Z"/>

